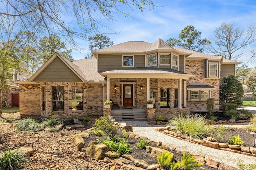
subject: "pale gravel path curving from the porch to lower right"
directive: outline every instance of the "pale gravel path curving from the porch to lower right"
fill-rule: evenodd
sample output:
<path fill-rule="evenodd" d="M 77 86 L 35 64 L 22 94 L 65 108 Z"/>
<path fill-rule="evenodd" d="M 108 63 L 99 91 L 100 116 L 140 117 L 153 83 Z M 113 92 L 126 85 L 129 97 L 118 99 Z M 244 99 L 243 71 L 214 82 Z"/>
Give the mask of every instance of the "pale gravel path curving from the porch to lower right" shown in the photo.
<path fill-rule="evenodd" d="M 119 123 L 124 125 L 132 125 L 134 133 L 143 137 L 147 137 L 151 141 L 161 141 L 164 145 L 167 145 L 170 148 L 176 148 L 176 150 L 179 151 L 188 151 L 193 155 L 200 154 L 205 158 L 211 158 L 236 168 L 238 168 L 237 162 L 239 160 L 244 160 L 245 164 L 256 163 L 256 157 L 253 156 L 246 156 L 243 154 L 204 147 L 202 145 L 182 141 L 180 139 L 164 135 L 154 130 L 154 127 L 159 127 L 159 125 L 154 125 L 152 127 L 146 121 L 121 121 Z"/>

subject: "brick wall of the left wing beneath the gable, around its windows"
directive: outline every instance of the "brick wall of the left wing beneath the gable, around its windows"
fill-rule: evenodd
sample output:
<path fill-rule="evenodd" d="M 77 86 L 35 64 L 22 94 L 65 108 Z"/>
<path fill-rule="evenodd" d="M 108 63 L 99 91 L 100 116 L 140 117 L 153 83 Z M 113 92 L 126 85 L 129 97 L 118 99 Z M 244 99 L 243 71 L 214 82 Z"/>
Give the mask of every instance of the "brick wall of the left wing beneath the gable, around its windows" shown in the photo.
<path fill-rule="evenodd" d="M 103 88 L 101 84 L 75 82 L 44 82 L 20 84 L 20 115 L 44 117 L 79 118 L 103 114 Z M 52 86 L 64 86 L 64 110 L 52 111 Z M 83 87 L 83 110 L 72 111 L 72 87 Z M 46 110 L 42 111 L 42 87 L 46 90 Z"/>

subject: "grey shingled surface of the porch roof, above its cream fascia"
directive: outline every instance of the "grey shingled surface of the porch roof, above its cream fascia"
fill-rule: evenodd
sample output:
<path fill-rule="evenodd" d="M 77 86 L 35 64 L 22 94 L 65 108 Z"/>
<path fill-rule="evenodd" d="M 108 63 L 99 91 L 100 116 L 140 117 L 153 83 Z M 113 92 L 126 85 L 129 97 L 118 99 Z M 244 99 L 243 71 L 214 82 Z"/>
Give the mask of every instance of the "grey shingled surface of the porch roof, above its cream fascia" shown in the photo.
<path fill-rule="evenodd" d="M 149 68 L 149 67 L 137 67 L 137 68 L 127 68 L 124 70 L 110 70 L 105 71 L 102 73 L 132 73 L 132 74 L 139 74 L 139 73 L 159 73 L 159 74 L 186 74 L 181 71 L 173 70 L 170 68 Z"/>

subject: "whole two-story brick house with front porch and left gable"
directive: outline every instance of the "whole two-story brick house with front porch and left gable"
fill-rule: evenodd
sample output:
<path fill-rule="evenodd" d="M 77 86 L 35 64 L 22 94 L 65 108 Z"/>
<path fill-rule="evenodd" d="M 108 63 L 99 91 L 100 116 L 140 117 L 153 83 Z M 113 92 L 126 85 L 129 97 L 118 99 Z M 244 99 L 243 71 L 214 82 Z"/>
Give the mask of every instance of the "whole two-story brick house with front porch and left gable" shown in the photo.
<path fill-rule="evenodd" d="M 220 78 L 235 75 L 236 61 L 156 43 L 128 41 L 70 62 L 57 53 L 20 83 L 20 114 L 59 117 L 102 115 L 104 101 L 146 109 L 149 119 L 184 111 L 219 110 Z"/>

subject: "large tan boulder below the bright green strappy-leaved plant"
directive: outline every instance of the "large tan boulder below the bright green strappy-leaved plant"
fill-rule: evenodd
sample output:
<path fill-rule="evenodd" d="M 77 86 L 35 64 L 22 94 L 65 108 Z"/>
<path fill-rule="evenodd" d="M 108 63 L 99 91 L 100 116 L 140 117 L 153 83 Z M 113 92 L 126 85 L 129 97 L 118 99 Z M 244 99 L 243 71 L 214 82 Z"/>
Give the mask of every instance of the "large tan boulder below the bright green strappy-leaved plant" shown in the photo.
<path fill-rule="evenodd" d="M 108 146 L 96 141 L 90 142 L 86 149 L 86 155 L 93 159 L 102 159 L 106 152 L 108 152 Z"/>

